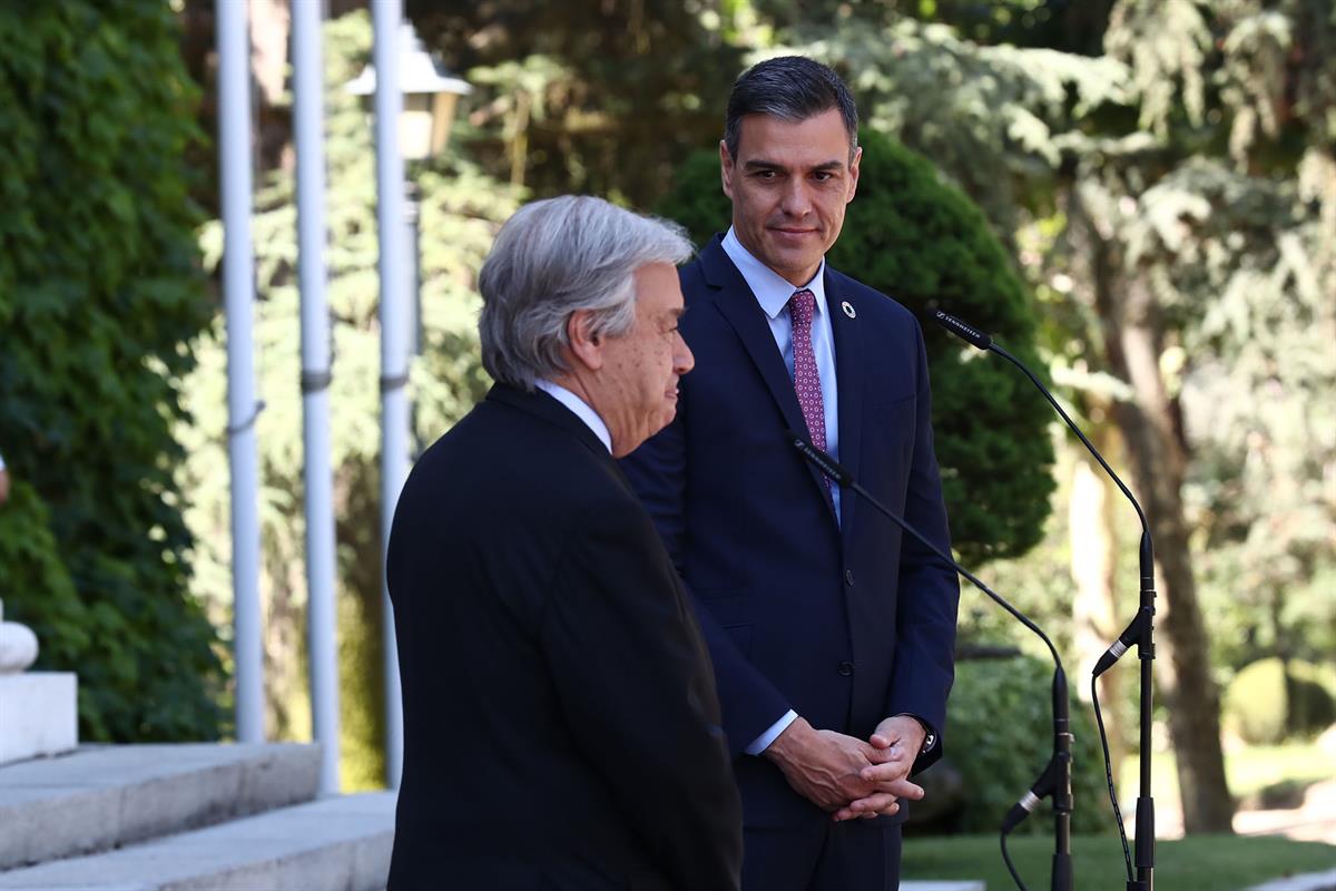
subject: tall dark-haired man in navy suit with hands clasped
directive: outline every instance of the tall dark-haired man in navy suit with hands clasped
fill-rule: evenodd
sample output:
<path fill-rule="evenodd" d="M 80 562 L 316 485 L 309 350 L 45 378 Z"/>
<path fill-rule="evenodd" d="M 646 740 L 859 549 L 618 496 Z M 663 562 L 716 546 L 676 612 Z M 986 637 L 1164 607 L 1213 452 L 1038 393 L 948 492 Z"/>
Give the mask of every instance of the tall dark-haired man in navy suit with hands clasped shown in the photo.
<path fill-rule="evenodd" d="M 681 270 L 696 371 L 624 461 L 705 632 L 747 891 L 898 887 L 900 801 L 941 757 L 954 675 L 953 570 L 784 434 L 950 548 L 922 331 L 824 260 L 856 128 L 846 85 L 810 59 L 739 77 L 719 150 L 732 227 Z"/>

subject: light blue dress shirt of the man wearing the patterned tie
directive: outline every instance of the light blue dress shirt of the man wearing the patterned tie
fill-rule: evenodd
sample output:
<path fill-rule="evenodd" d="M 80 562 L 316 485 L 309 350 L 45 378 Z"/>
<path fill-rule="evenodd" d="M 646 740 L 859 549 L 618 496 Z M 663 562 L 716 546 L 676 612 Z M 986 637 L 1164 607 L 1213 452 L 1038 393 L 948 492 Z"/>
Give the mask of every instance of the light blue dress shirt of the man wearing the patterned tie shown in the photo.
<path fill-rule="evenodd" d="M 721 247 L 728 254 L 728 259 L 737 267 L 737 271 L 743 274 L 747 287 L 751 289 L 756 297 L 756 302 L 760 303 L 762 311 L 766 313 L 766 321 L 770 322 L 770 333 L 775 338 L 775 346 L 779 347 L 780 355 L 784 357 L 784 367 L 788 369 L 788 377 L 792 378 L 794 321 L 784 310 L 788 306 L 790 298 L 794 297 L 794 291 L 800 289 L 752 256 L 751 251 L 737 240 L 737 235 L 731 226 L 728 227 L 728 234 L 724 235 Z M 835 386 L 835 334 L 831 330 L 830 307 L 826 303 L 826 258 L 822 258 L 822 264 L 818 267 L 812 281 L 803 287 L 816 298 L 816 310 L 812 314 L 812 354 L 816 358 L 816 374 L 822 381 L 822 409 L 824 409 L 826 414 L 826 452 L 839 461 L 839 390 Z M 832 485 L 831 498 L 835 502 L 836 522 L 839 522 L 839 486 Z M 770 729 L 752 740 L 751 745 L 744 751 L 748 755 L 760 755 L 795 720 L 798 720 L 798 712 L 790 709 L 783 717 L 771 724 Z"/>

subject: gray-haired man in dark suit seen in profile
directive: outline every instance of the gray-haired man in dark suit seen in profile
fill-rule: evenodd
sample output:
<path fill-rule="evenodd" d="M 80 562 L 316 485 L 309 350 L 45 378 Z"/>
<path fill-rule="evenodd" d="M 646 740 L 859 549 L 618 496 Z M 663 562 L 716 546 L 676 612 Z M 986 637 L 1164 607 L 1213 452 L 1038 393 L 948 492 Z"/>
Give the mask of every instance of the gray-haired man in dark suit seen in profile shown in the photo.
<path fill-rule="evenodd" d="M 488 397 L 417 462 L 389 544 L 405 752 L 390 891 L 739 887 L 708 652 L 613 457 L 676 414 L 672 224 L 517 212 L 482 267 Z"/>

